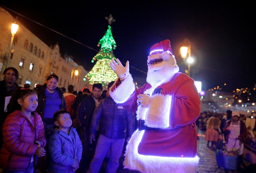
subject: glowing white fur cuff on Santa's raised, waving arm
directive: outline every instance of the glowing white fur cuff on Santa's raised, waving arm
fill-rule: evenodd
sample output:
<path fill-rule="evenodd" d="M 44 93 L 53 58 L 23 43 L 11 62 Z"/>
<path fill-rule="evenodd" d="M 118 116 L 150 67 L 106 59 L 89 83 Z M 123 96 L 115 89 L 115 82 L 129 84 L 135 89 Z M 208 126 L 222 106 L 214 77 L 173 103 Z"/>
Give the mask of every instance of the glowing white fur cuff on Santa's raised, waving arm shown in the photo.
<path fill-rule="evenodd" d="M 114 85 L 115 85 L 115 83 L 114 83 Z M 111 91 L 111 88 L 110 88 L 110 92 L 109 92 L 110 96 L 114 99 L 114 101 L 116 103 L 123 103 L 135 91 L 133 77 L 131 76 L 131 74 L 128 74 L 128 77 L 126 79 L 122 80 L 121 84 L 119 86 L 117 86 L 114 91 Z"/>

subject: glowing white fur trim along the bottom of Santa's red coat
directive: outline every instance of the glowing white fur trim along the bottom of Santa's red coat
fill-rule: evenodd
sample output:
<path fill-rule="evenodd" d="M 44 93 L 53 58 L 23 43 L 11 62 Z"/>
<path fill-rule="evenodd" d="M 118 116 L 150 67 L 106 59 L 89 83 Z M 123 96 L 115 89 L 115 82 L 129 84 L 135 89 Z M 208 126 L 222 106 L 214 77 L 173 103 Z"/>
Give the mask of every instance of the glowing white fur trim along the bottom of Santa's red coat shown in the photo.
<path fill-rule="evenodd" d="M 146 156 L 138 153 L 138 146 L 145 131 L 135 131 L 126 146 L 124 168 L 143 173 L 196 173 L 199 157 L 174 158 Z"/>

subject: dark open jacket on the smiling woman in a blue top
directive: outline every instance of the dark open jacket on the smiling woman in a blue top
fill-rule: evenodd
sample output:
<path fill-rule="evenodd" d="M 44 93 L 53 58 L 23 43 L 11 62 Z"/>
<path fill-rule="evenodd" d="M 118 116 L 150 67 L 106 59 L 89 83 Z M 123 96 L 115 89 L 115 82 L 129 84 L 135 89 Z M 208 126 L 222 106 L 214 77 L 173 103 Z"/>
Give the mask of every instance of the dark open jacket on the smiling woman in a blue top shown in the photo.
<path fill-rule="evenodd" d="M 38 86 L 36 91 L 37 91 L 37 97 L 38 97 L 38 106 L 36 111 L 38 112 L 38 114 L 40 114 L 40 116 L 43 118 L 44 115 L 44 107 L 45 107 L 45 88 L 46 88 L 46 83 L 43 86 Z M 58 87 L 56 87 L 55 89 L 56 91 L 58 91 L 59 93 L 59 98 L 61 99 L 61 105 L 59 106 L 59 109 L 67 109 L 66 107 L 66 100 L 63 96 L 63 93 L 61 91 L 61 89 L 59 89 Z"/>

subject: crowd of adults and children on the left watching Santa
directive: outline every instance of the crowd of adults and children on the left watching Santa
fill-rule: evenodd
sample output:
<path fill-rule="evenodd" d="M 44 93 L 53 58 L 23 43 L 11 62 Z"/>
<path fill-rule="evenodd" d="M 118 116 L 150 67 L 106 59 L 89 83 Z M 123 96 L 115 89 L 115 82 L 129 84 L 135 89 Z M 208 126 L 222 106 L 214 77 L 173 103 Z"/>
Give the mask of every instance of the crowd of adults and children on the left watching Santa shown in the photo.
<path fill-rule="evenodd" d="M 31 89 L 15 83 L 18 70 L 6 68 L 0 81 L 0 168 L 4 173 L 96 173 L 105 157 L 119 166 L 135 115 L 118 105 L 101 83 L 92 91 L 58 88 L 52 73 Z M 108 88 L 113 85 L 110 82 Z M 97 144 L 98 142 L 98 144 Z M 104 146 L 104 147 L 103 147 Z"/>

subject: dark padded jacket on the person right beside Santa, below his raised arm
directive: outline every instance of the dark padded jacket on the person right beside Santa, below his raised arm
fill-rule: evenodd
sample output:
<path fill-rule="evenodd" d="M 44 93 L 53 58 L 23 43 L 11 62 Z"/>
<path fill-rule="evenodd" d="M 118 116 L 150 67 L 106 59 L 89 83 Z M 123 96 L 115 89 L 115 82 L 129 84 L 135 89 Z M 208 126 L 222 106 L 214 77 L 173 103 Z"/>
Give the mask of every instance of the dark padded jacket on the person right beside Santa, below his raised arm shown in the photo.
<path fill-rule="evenodd" d="M 123 106 L 114 102 L 111 97 L 101 100 L 95 108 L 91 120 L 90 133 L 95 134 L 96 128 L 100 120 L 100 134 L 111 139 L 121 139 L 126 137 L 126 129 L 128 128 L 128 136 L 134 132 L 135 116 Z"/>

